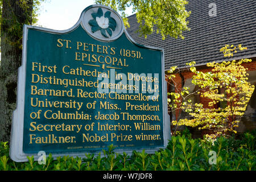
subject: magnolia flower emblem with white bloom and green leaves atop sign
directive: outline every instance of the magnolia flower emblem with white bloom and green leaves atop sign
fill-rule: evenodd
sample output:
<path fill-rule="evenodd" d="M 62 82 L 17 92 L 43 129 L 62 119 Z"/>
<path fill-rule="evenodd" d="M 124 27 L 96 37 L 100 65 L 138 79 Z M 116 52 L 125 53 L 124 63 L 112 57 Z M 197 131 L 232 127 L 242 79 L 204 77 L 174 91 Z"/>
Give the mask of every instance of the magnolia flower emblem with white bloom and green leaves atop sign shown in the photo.
<path fill-rule="evenodd" d="M 117 22 L 110 16 L 111 12 L 106 11 L 103 15 L 101 8 L 98 9 L 97 13 L 92 13 L 93 19 L 89 20 L 89 25 L 92 27 L 92 32 L 101 31 L 101 35 L 105 38 L 112 36 L 112 31 L 115 31 Z M 108 32 L 108 34 L 106 34 Z"/>

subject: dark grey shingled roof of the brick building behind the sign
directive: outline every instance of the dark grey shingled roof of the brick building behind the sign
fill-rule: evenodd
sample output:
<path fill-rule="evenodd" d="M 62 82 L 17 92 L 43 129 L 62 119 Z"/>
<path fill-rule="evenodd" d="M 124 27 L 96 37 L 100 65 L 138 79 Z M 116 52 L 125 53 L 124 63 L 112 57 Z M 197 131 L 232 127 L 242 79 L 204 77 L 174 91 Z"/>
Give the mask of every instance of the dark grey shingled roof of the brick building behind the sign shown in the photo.
<path fill-rule="evenodd" d="M 217 16 L 210 17 L 209 4 L 216 3 Z M 238 52 L 233 59 L 256 57 L 256 1 L 255 0 L 188 0 L 186 10 L 191 31 L 183 32 L 185 39 L 168 36 L 162 40 L 155 32 L 145 39 L 140 36 L 136 15 L 129 16 L 127 32 L 135 42 L 164 48 L 165 69 L 196 61 L 205 65 L 210 61 L 225 60 L 220 48 L 225 44 L 242 44 L 246 51 Z"/>

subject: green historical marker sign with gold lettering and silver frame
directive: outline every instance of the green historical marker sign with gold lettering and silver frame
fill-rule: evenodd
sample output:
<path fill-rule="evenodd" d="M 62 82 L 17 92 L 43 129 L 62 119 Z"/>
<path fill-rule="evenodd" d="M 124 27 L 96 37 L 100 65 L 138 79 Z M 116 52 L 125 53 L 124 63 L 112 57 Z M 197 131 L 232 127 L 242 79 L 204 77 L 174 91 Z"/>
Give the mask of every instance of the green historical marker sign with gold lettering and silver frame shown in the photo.
<path fill-rule="evenodd" d="M 109 7 L 87 7 L 65 31 L 24 26 L 22 61 L 11 159 L 167 146 L 163 49 L 135 43 Z"/>

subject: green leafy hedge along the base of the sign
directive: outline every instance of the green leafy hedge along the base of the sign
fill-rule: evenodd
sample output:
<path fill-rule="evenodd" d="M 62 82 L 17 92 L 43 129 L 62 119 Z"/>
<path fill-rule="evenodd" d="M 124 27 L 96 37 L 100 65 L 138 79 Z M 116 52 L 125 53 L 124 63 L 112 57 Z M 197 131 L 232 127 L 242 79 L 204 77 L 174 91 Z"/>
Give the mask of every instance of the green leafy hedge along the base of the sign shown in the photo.
<path fill-rule="evenodd" d="M 84 158 L 70 156 L 53 160 L 51 154 L 46 164 L 39 164 L 34 157 L 28 162 L 16 163 L 9 158 L 7 142 L 0 145 L 0 170 L 252 170 L 255 171 L 255 134 L 245 133 L 241 139 L 218 138 L 214 143 L 202 139 L 191 139 L 191 135 L 172 137 L 166 149 L 155 154 L 133 151 L 116 154 L 113 146 L 103 150 L 104 158 L 85 154 Z M 210 164 L 215 151 L 216 164 Z"/>

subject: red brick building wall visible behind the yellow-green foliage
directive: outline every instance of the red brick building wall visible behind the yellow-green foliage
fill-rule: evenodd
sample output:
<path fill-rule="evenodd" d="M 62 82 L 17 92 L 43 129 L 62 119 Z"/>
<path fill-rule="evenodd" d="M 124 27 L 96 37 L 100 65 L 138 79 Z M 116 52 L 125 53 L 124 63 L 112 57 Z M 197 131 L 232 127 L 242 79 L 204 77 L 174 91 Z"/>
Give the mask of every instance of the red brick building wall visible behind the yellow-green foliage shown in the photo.
<path fill-rule="evenodd" d="M 243 67 L 247 68 L 247 73 L 249 73 L 249 82 L 251 85 L 255 85 L 256 88 L 256 61 L 244 63 L 242 64 Z M 209 72 L 212 68 L 197 68 L 197 71 L 202 72 Z M 184 86 L 188 86 L 188 82 L 191 82 L 191 78 L 193 76 L 193 73 L 190 71 L 184 71 L 181 73 L 182 77 L 179 74 L 176 74 L 175 76 L 175 82 L 177 83 L 177 88 L 182 89 L 182 80 L 184 80 L 183 84 Z M 168 92 L 171 92 L 171 86 L 167 84 Z M 193 91 L 193 90 L 191 90 Z M 175 90 L 177 92 L 177 90 Z M 202 97 L 195 97 L 193 98 L 194 101 L 200 102 L 204 105 L 204 107 L 208 107 L 208 103 L 211 101 L 208 98 L 202 98 Z M 214 105 L 213 107 L 218 107 L 218 105 Z M 172 113 L 174 114 L 174 113 Z M 176 110 L 175 116 L 176 118 L 181 114 L 181 110 Z M 172 116 L 172 119 L 174 119 L 174 116 Z M 238 133 L 243 133 L 247 130 L 254 130 L 256 129 L 256 89 L 254 89 L 254 93 L 251 97 L 251 100 L 249 104 L 247 105 L 247 109 L 245 111 L 245 114 L 243 115 L 239 127 L 236 129 Z"/>

